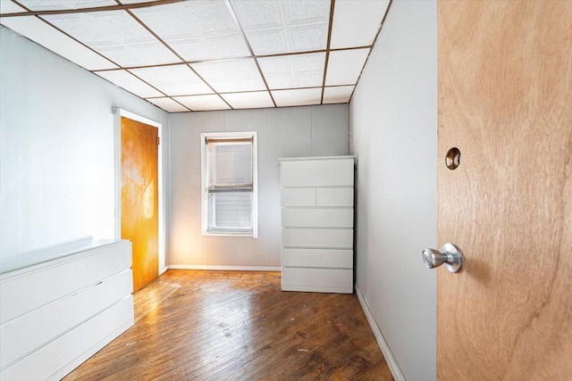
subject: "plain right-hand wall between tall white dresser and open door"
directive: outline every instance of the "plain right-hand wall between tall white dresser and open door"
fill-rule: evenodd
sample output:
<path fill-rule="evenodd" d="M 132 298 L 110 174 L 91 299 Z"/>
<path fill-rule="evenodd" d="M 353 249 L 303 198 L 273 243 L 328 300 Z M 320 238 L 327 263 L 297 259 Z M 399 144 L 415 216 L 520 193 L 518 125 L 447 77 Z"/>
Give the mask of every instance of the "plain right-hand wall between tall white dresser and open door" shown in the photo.
<path fill-rule="evenodd" d="M 437 15 L 394 1 L 350 102 L 357 287 L 408 381 L 436 377 Z"/>

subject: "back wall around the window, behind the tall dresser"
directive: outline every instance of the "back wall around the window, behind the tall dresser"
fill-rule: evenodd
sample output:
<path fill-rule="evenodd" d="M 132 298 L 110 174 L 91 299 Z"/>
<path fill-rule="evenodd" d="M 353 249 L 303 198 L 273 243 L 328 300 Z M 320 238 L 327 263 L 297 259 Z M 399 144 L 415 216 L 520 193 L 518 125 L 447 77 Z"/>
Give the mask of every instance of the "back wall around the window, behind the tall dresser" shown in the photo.
<path fill-rule="evenodd" d="M 278 158 L 347 154 L 346 104 L 171 115 L 172 266 L 281 266 Z M 258 132 L 258 238 L 201 236 L 200 133 Z"/>

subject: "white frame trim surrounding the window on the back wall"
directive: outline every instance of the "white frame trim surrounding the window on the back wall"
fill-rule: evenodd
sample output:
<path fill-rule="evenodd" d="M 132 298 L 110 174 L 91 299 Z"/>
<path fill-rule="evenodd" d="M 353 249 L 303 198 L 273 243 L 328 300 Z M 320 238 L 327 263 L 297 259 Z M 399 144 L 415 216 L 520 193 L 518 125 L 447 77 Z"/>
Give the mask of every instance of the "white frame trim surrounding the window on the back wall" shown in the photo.
<path fill-rule="evenodd" d="M 252 203 L 250 208 L 252 230 L 217 229 L 209 230 L 209 213 L 211 213 L 208 189 L 207 139 L 244 140 L 252 139 Z M 203 236 L 248 236 L 258 237 L 258 144 L 257 131 L 245 132 L 204 132 L 200 134 L 201 164 L 201 234 Z"/>

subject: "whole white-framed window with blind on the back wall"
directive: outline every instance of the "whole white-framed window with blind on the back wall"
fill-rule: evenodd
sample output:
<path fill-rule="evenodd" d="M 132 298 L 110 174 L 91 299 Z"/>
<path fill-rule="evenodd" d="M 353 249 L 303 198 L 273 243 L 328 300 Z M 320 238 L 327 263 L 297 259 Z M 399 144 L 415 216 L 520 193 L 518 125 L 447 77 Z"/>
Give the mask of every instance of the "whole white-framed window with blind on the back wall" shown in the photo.
<path fill-rule="evenodd" d="M 257 237 L 257 133 L 201 134 L 206 236 Z"/>

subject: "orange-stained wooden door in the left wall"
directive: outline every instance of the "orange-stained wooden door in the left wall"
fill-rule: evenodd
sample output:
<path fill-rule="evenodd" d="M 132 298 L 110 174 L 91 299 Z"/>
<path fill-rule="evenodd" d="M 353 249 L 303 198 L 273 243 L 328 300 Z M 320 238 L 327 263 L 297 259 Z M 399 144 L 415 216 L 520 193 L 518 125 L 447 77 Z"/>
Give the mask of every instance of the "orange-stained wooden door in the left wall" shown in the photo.
<path fill-rule="evenodd" d="M 157 136 L 122 117 L 122 238 L 133 244 L 133 291 L 158 277 Z"/>

